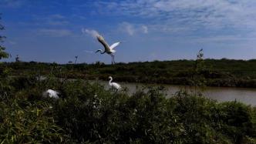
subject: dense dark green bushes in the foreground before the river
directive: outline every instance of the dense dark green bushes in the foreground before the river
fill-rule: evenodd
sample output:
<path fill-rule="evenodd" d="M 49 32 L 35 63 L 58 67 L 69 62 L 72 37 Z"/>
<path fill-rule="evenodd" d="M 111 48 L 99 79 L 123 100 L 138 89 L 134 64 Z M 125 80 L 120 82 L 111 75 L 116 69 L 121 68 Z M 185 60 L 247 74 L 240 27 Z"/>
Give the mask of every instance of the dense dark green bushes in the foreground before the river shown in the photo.
<path fill-rule="evenodd" d="M 183 91 L 167 99 L 161 88 L 128 96 L 52 75 L 1 83 L 9 88 L 0 97 L 3 143 L 255 143 L 256 109 L 241 102 Z M 61 98 L 42 99 L 45 89 Z"/>

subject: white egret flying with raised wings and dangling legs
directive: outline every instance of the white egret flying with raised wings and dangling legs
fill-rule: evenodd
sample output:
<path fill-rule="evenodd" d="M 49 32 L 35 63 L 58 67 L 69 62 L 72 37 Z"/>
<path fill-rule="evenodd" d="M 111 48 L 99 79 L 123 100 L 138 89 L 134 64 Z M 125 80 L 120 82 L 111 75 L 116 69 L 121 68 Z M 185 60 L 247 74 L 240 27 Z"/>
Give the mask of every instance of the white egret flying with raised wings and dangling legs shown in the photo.
<path fill-rule="evenodd" d="M 121 42 L 115 42 L 113 45 L 109 46 L 102 35 L 97 35 L 98 41 L 104 46 L 104 51 L 102 49 L 98 49 L 95 53 L 100 52 L 100 54 L 104 54 L 105 52 L 112 57 L 112 64 L 115 63 L 115 55 L 113 53 L 116 52 L 114 48 L 116 48 L 117 45 L 119 45 Z"/>

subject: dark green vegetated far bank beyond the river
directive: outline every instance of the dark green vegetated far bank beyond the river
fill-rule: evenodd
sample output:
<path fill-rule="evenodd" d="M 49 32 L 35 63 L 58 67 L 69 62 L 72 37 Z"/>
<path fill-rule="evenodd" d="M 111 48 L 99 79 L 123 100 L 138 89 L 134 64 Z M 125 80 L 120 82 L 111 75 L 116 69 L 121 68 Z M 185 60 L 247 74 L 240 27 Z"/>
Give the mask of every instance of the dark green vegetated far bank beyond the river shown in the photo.
<path fill-rule="evenodd" d="M 116 65 L 12 62 L 3 66 L 12 75 L 48 75 L 70 79 L 102 79 L 112 75 L 116 81 L 174 85 L 193 85 L 196 61 L 131 62 Z M 208 86 L 256 88 L 256 60 L 204 59 L 204 69 L 197 72 Z"/>

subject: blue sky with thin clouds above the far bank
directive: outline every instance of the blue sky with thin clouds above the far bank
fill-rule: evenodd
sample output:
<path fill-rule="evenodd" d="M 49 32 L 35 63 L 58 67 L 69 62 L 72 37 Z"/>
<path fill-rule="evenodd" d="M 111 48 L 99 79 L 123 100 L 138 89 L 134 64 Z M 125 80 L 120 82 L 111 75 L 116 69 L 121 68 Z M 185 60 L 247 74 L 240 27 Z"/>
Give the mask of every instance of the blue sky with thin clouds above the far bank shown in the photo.
<path fill-rule="evenodd" d="M 116 62 L 256 58 L 254 0 L 0 0 L 0 13 L 8 61 L 110 63 L 89 53 L 94 31 L 123 42 Z"/>

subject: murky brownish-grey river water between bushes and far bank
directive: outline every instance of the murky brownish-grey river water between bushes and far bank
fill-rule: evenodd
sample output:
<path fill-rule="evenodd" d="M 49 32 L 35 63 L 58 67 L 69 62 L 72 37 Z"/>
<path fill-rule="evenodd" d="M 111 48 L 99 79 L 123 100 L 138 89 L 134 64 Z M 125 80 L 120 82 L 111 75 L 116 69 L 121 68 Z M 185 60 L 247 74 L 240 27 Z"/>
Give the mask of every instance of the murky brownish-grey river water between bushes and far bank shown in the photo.
<path fill-rule="evenodd" d="M 105 89 L 109 89 L 109 83 L 104 81 L 94 81 L 104 85 Z M 160 86 L 142 83 L 127 83 L 118 82 L 123 88 L 127 88 L 129 94 L 136 92 L 136 89 L 141 89 L 143 86 Z M 164 93 L 167 97 L 172 96 L 180 89 L 186 89 L 187 91 L 193 91 L 193 88 L 184 85 L 163 85 L 165 87 Z M 227 87 L 206 87 L 203 91 L 203 95 L 207 98 L 216 99 L 218 102 L 234 101 L 244 102 L 248 105 L 256 105 L 256 89 L 249 88 L 227 88 Z"/>

